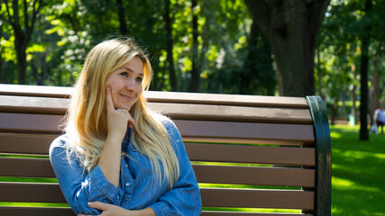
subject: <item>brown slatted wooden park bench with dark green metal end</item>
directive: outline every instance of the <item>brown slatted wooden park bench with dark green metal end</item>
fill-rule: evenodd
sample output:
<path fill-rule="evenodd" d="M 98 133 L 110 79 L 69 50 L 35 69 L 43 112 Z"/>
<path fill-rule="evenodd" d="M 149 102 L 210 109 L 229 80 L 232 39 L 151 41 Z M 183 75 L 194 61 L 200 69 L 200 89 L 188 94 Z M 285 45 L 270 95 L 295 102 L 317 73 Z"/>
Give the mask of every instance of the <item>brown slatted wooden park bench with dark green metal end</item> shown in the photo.
<path fill-rule="evenodd" d="M 74 215 L 52 206 L 66 201 L 48 158 L 71 91 L 0 85 L 0 215 Z M 201 215 L 331 214 L 330 131 L 319 97 L 147 97 L 179 128 L 201 186 Z"/>

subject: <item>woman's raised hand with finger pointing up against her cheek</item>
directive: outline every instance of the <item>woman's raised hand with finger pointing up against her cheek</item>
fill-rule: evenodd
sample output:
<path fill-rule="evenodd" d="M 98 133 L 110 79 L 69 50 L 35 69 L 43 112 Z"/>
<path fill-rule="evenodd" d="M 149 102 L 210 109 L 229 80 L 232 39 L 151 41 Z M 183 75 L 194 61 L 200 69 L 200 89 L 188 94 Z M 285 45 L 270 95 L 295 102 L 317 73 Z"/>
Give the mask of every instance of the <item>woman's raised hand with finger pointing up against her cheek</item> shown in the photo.
<path fill-rule="evenodd" d="M 133 121 L 133 117 L 127 110 L 115 109 L 110 87 L 106 89 L 105 101 L 107 106 L 108 136 L 122 141 L 127 130 L 127 122 L 128 126 L 133 128 L 135 121 Z"/>

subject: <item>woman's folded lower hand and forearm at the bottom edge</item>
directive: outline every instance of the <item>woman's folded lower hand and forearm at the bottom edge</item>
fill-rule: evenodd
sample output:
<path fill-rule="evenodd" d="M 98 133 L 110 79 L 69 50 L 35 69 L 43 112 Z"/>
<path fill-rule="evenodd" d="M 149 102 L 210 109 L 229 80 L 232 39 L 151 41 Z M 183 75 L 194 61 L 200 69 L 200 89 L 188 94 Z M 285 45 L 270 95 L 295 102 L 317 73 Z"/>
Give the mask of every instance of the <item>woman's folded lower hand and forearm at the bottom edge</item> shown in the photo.
<path fill-rule="evenodd" d="M 122 207 L 108 204 L 104 202 L 88 202 L 89 207 L 103 211 L 100 216 L 155 216 L 155 212 L 151 208 L 146 208 L 141 211 L 129 211 Z M 78 214 L 78 216 L 87 216 L 85 214 Z"/>

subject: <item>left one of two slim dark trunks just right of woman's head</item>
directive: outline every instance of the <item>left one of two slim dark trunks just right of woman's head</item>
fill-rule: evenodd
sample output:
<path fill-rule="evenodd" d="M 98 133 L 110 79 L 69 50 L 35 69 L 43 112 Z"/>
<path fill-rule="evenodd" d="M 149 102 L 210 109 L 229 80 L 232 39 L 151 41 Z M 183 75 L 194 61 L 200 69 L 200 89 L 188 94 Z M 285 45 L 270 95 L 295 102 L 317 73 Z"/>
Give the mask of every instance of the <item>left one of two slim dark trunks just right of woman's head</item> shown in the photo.
<path fill-rule="evenodd" d="M 174 58 L 172 55 L 173 50 L 173 40 L 172 40 L 172 23 L 170 18 L 170 0 L 164 0 L 165 9 L 164 9 L 164 17 L 166 23 L 166 31 L 167 31 L 167 63 L 169 66 L 169 74 L 170 74 L 170 85 L 171 91 L 177 91 L 177 77 L 175 76 L 174 69 Z"/>

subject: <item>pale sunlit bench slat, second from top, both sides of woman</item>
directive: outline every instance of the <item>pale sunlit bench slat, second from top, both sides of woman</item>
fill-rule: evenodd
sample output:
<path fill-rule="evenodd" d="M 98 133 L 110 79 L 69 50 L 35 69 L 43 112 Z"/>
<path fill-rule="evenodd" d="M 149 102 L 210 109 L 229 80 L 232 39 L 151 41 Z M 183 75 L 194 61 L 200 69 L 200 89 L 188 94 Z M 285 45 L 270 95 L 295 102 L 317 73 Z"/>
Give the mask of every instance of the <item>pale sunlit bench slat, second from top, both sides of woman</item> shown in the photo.
<path fill-rule="evenodd" d="M 68 107 L 69 99 L 0 95 L 0 112 L 64 115 Z M 149 107 L 175 120 L 312 123 L 308 109 L 186 103 L 149 103 Z"/>

